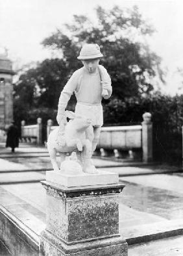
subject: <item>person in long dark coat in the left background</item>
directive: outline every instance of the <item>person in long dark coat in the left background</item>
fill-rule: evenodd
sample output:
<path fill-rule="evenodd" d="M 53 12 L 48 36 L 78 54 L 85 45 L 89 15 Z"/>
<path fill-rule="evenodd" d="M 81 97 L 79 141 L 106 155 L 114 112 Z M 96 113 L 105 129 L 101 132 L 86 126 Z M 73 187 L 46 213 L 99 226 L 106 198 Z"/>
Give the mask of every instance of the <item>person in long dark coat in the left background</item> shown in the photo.
<path fill-rule="evenodd" d="M 8 127 L 7 137 L 6 137 L 6 147 L 11 147 L 12 152 L 15 151 L 15 148 L 19 146 L 19 133 L 18 127 L 12 122 L 10 127 Z"/>

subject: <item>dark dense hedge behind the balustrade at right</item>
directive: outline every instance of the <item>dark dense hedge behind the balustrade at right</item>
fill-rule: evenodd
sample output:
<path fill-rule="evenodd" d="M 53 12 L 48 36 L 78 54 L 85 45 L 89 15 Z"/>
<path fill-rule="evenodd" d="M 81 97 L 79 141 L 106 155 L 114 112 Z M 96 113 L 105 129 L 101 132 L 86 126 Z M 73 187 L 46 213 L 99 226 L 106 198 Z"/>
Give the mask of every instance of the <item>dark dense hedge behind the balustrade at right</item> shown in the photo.
<path fill-rule="evenodd" d="M 153 121 L 154 160 L 182 162 L 183 96 L 164 96 L 159 92 L 148 97 L 111 99 L 104 105 L 104 125 L 130 125 L 142 122 L 144 112 Z"/>

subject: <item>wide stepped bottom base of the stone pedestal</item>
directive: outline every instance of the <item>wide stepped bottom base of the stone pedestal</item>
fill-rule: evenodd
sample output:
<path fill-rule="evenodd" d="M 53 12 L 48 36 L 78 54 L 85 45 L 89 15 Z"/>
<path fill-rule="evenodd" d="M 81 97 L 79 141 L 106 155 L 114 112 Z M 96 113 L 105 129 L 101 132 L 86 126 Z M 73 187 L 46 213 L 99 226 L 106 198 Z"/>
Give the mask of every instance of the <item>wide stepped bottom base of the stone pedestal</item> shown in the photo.
<path fill-rule="evenodd" d="M 42 256 L 127 256 L 127 242 L 117 237 L 93 239 L 88 242 L 65 243 L 48 231 L 43 231 L 40 240 Z"/>

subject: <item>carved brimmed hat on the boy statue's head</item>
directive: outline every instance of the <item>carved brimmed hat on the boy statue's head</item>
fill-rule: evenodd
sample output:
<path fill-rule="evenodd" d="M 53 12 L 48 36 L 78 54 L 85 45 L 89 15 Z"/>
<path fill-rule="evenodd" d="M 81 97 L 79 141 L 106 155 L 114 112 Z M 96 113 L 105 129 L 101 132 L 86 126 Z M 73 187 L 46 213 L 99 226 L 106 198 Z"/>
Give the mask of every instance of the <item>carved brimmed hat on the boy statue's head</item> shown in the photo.
<path fill-rule="evenodd" d="M 97 44 L 85 44 L 80 50 L 80 55 L 77 57 L 79 60 L 89 60 L 92 58 L 101 58 L 103 54 L 101 53 L 100 47 Z"/>

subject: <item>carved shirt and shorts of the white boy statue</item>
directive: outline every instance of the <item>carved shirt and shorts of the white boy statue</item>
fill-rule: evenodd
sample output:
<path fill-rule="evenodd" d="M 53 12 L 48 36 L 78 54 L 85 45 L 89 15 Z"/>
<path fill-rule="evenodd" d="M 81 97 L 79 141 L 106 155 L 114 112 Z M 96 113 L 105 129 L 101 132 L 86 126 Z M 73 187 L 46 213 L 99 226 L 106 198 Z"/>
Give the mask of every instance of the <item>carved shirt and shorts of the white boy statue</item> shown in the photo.
<path fill-rule="evenodd" d="M 99 122 L 96 123 L 96 120 L 93 120 L 93 125 L 102 126 L 103 109 L 101 100 L 103 85 L 101 84 L 101 80 L 105 82 L 105 88 L 108 90 L 108 97 L 110 97 L 112 94 L 111 79 L 103 66 L 99 65 L 95 73 L 89 73 L 84 67 L 75 71 L 60 94 L 58 114 L 66 109 L 71 95 L 75 92 L 77 98 L 75 112 L 89 115 L 92 120 L 95 114 L 99 112 L 97 115 Z"/>

